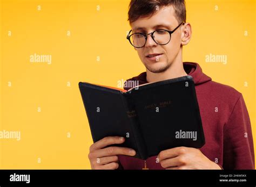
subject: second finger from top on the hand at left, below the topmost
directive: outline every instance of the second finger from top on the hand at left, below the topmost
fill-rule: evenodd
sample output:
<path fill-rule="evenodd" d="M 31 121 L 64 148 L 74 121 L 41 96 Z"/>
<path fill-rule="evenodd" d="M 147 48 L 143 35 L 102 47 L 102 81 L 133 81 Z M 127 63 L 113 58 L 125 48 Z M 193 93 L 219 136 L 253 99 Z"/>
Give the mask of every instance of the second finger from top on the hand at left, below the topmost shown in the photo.
<path fill-rule="evenodd" d="M 135 150 L 126 148 L 126 147 L 107 147 L 104 149 L 97 150 L 92 152 L 92 157 L 104 157 L 104 156 L 113 156 L 113 155 L 127 155 L 134 156 L 136 154 Z"/>

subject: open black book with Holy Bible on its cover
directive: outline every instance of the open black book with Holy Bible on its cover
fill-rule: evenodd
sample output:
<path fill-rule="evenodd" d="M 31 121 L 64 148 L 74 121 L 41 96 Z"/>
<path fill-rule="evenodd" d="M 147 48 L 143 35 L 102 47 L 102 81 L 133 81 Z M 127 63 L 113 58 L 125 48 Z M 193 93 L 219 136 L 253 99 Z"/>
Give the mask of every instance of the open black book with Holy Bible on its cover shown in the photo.
<path fill-rule="evenodd" d="M 205 143 L 194 81 L 183 76 L 128 91 L 79 82 L 93 142 L 123 136 L 120 147 L 146 160 L 161 150 Z"/>

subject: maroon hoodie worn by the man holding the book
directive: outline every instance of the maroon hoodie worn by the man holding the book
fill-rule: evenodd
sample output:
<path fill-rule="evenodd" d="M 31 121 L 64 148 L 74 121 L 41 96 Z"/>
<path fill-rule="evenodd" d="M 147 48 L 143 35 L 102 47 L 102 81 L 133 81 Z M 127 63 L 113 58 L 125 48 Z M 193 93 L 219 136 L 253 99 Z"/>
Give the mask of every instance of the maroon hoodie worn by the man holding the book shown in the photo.
<path fill-rule="evenodd" d="M 223 169 L 254 169 L 252 129 L 242 94 L 228 85 L 212 81 L 198 63 L 184 62 L 183 66 L 196 85 L 205 134 L 201 152 Z M 147 83 L 146 72 L 130 80 Z M 149 169 L 164 169 L 156 162 L 157 156 L 146 161 L 124 155 L 118 157 L 119 169 L 142 169 L 145 163 Z"/>

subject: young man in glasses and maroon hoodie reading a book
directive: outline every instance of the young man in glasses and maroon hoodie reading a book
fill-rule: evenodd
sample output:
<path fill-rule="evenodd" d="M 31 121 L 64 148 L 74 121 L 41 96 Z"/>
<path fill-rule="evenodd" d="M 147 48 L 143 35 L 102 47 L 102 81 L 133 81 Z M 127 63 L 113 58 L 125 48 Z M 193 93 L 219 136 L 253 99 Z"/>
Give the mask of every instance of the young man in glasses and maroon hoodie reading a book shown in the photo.
<path fill-rule="evenodd" d="M 106 137 L 90 147 L 92 169 L 254 169 L 251 123 L 241 93 L 213 82 L 198 63 L 182 61 L 183 46 L 192 34 L 186 23 L 185 1 L 132 0 L 129 21 L 132 30 L 127 39 L 146 67 L 146 72 L 129 81 L 144 84 L 192 76 L 206 143 L 200 149 L 163 150 L 143 161 L 130 157 L 134 150 L 105 148 L 125 141 Z"/>

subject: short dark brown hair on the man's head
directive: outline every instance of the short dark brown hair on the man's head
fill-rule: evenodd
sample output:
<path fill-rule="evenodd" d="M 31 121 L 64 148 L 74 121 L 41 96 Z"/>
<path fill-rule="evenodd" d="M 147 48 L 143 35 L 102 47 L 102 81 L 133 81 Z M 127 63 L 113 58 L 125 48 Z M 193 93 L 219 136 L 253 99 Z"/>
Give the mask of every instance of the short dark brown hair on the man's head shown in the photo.
<path fill-rule="evenodd" d="M 186 22 L 185 0 L 131 0 L 128 21 L 131 24 L 139 18 L 151 17 L 158 9 L 169 5 L 173 5 L 178 22 Z"/>

